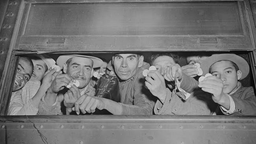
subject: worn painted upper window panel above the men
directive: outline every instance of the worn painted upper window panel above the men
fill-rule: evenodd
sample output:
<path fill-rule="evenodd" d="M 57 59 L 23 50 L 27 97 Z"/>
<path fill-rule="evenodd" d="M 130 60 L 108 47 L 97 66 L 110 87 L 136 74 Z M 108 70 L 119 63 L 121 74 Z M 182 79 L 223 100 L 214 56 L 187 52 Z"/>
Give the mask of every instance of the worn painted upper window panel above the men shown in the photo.
<path fill-rule="evenodd" d="M 15 48 L 19 51 L 253 50 L 243 1 L 49 2 L 26 7 L 28 18 Z M 52 44 L 52 38 L 63 41 Z"/>

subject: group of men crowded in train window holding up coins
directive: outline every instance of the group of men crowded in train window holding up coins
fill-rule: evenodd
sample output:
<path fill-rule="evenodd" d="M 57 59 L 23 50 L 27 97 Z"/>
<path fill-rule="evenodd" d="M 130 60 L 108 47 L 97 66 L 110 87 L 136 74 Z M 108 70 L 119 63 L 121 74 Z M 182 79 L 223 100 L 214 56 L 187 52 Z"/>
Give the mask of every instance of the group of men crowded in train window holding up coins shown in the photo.
<path fill-rule="evenodd" d="M 9 115 L 85 114 L 96 109 L 124 115 L 256 115 L 253 87 L 239 82 L 249 74 L 249 65 L 236 54 L 191 55 L 182 67 L 180 57 L 171 53 L 153 53 L 150 64 L 142 54 L 114 54 L 105 67 L 119 79 L 120 102 L 95 96 L 93 72 L 104 64 L 97 57 L 61 55 L 56 61 L 61 71 L 52 68 L 55 61 L 50 57 L 31 59 L 20 57 Z M 198 82 L 195 63 L 203 75 L 212 76 Z M 145 76 L 150 65 L 156 70 Z"/>

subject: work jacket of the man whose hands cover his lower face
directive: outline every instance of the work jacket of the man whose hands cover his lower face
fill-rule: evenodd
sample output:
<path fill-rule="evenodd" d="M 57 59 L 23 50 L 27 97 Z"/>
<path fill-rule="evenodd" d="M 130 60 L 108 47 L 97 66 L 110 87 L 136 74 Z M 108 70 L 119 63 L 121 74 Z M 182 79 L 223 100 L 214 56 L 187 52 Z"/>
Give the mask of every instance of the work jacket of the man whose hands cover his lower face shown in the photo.
<path fill-rule="evenodd" d="M 210 115 L 217 105 L 212 101 L 211 94 L 198 89 L 198 81 L 183 74 L 181 88 L 190 93 L 186 99 L 182 92 L 171 92 L 167 89 L 165 101 L 157 100 L 154 107 L 155 114 L 187 114 L 187 115 Z"/>

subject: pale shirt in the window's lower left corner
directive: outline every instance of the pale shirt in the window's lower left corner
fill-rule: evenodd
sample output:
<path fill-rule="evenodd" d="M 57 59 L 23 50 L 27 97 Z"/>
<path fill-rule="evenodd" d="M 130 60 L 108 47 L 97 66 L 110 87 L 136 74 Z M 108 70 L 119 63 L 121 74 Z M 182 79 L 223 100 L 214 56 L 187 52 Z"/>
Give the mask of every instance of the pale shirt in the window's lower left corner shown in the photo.
<path fill-rule="evenodd" d="M 41 83 L 29 80 L 22 89 L 11 93 L 7 115 L 36 115 L 38 107 L 32 104 L 32 98 L 37 93 Z"/>

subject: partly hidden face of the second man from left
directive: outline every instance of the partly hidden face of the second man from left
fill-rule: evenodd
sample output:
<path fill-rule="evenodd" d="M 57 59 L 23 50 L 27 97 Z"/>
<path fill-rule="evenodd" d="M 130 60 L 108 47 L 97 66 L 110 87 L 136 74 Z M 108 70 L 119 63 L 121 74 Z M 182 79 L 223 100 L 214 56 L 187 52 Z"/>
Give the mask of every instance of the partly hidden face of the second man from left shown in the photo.
<path fill-rule="evenodd" d="M 34 69 L 32 74 L 32 79 L 37 79 L 38 81 L 41 81 L 43 79 L 43 76 L 46 72 L 47 65 L 42 59 L 32 59 Z"/>

